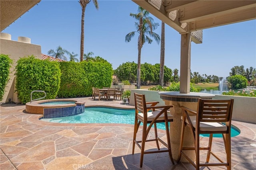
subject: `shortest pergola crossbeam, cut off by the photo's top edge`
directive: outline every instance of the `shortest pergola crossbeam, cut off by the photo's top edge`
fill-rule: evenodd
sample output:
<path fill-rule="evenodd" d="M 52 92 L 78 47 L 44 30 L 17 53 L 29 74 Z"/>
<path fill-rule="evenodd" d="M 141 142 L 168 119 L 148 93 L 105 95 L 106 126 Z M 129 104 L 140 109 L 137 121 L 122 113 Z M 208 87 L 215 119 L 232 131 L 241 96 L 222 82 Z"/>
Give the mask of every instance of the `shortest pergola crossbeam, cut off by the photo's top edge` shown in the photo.
<path fill-rule="evenodd" d="M 196 2 L 196 0 L 166 0 L 165 11 L 171 12 L 186 7 L 186 5 Z"/>

